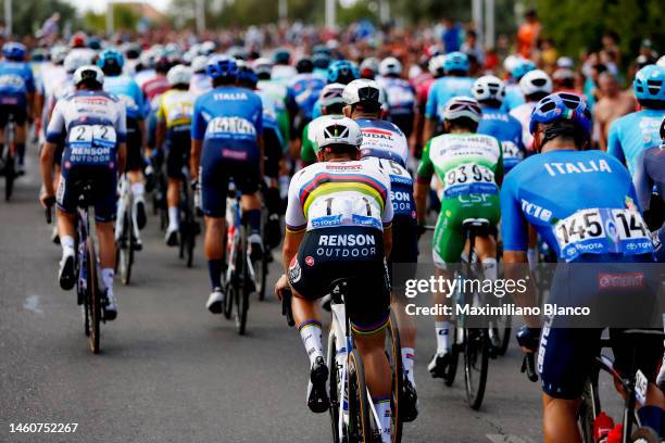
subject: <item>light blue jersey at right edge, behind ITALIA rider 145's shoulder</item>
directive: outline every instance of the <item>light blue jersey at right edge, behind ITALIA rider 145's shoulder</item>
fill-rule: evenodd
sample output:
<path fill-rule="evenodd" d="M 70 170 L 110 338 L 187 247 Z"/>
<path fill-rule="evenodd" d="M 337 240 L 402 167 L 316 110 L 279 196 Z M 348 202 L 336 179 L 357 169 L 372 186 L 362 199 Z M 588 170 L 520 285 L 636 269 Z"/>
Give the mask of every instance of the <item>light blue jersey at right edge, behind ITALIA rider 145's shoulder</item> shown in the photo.
<path fill-rule="evenodd" d="M 663 117 L 665 110 L 642 110 L 624 115 L 610 126 L 607 152 L 625 163 L 631 175 L 640 153 L 661 144 L 658 130 Z"/>

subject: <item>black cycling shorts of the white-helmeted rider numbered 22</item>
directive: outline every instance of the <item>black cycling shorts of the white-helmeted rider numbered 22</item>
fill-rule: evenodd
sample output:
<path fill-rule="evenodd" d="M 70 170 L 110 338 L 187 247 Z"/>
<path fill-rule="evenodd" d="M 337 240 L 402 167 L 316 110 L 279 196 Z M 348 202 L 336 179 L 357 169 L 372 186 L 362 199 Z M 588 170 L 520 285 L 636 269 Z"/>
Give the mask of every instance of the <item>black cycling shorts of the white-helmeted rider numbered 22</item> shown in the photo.
<path fill-rule="evenodd" d="M 117 202 L 117 174 L 115 169 L 99 166 L 63 167 L 55 195 L 60 211 L 67 214 L 76 212 L 78 203 L 77 181 L 93 180 L 92 202 L 95 219 L 97 221 L 113 221 Z"/>

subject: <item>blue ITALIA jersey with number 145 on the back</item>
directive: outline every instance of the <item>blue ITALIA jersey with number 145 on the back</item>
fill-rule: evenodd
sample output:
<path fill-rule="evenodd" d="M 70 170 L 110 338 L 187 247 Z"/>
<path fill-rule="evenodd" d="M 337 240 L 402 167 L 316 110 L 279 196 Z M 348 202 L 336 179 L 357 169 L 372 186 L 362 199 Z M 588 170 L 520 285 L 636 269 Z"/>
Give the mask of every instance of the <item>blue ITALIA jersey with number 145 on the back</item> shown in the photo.
<path fill-rule="evenodd" d="M 527 250 L 530 224 L 565 262 L 626 261 L 653 252 L 630 174 L 601 151 L 526 159 L 503 181 L 501 215 L 505 251 Z"/>

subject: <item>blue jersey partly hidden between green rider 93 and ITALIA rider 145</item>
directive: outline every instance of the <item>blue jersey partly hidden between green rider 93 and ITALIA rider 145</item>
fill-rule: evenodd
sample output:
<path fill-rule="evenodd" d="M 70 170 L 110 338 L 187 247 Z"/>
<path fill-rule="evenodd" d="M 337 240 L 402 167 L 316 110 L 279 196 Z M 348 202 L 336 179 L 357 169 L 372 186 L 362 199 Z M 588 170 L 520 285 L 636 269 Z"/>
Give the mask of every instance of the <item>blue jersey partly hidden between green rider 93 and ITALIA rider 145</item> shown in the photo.
<path fill-rule="evenodd" d="M 503 168 L 507 173 L 525 157 L 522 142 L 522 124 L 506 112 L 482 106 L 482 121 L 477 134 L 492 136 L 501 142 L 503 149 Z"/>

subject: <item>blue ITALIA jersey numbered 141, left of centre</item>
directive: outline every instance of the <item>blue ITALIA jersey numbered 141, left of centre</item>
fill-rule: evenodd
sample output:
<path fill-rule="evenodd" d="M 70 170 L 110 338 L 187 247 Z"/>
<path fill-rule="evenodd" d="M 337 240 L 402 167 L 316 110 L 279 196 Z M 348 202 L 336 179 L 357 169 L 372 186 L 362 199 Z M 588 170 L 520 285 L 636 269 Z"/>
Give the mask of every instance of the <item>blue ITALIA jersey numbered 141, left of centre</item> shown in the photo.
<path fill-rule="evenodd" d="M 249 89 L 219 87 L 197 99 L 191 138 L 203 149 L 246 150 L 256 147 L 263 130 L 263 102 Z"/>

